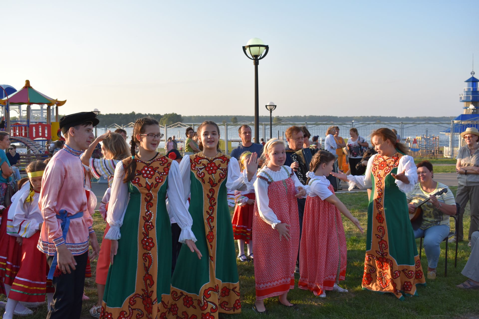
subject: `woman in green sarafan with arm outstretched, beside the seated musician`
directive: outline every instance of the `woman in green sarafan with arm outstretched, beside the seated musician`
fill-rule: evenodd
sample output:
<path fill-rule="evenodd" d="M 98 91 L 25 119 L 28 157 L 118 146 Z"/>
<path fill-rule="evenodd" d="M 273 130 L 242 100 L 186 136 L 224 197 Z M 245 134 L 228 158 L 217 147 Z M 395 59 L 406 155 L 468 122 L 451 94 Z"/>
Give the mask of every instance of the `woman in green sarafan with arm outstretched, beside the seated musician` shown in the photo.
<path fill-rule="evenodd" d="M 406 194 L 417 182 L 416 165 L 406 155 L 406 145 L 396 142 L 396 134 L 381 128 L 371 134 L 377 151 L 364 176 L 331 173 L 349 182 L 350 190 L 372 188 L 367 210 L 366 256 L 363 289 L 417 296 L 416 285 L 425 285 L 416 240 L 409 220 Z"/>

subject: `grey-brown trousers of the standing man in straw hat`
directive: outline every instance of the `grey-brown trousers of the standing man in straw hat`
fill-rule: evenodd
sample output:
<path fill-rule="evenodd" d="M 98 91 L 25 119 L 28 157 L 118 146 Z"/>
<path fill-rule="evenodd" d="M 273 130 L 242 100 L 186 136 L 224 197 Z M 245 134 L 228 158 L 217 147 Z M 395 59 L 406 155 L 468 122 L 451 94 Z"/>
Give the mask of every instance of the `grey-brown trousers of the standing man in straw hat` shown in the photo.
<path fill-rule="evenodd" d="M 456 192 L 456 202 L 461 205 L 459 212 L 459 218 L 457 220 L 457 240 L 464 240 L 463 220 L 464 209 L 469 202 L 471 207 L 471 225 L 469 227 L 469 241 L 474 231 L 479 230 L 479 185 L 477 186 L 464 186 L 459 184 Z"/>

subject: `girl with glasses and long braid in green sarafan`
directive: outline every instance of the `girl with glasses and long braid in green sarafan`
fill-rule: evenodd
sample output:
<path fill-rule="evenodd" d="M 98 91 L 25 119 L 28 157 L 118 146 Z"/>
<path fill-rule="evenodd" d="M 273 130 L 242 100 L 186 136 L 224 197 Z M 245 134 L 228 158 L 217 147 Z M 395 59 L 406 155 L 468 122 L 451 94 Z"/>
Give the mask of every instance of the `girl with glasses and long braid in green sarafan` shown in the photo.
<path fill-rule="evenodd" d="M 110 230 L 111 266 L 108 270 L 100 318 L 164 318 L 171 287 L 171 226 L 166 209 L 182 228 L 179 242 L 194 258 L 193 220 L 182 198 L 176 161 L 157 152 L 158 121 L 135 122 L 131 157 L 116 165 L 106 221 Z M 138 144 L 138 153 L 135 146 Z M 196 252 L 196 254 L 191 252 Z"/>

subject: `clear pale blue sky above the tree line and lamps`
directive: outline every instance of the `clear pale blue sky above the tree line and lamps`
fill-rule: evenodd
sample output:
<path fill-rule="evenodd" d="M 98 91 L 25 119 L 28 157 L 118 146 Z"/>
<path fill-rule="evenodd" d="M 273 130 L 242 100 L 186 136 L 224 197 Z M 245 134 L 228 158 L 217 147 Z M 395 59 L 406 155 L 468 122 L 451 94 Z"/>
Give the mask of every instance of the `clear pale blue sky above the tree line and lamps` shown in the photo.
<path fill-rule="evenodd" d="M 63 114 L 454 116 L 479 74 L 477 0 L 9 1 L 0 83 L 67 99 Z"/>

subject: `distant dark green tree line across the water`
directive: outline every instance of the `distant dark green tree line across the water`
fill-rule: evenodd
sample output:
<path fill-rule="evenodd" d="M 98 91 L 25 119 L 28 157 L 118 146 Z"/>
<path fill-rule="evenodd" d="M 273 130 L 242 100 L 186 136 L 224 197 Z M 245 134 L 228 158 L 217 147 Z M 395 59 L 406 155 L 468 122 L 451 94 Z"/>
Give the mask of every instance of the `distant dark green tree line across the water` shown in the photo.
<path fill-rule="evenodd" d="M 201 123 L 203 121 L 215 121 L 217 123 L 237 123 L 240 121 L 254 121 L 254 116 L 244 116 L 244 115 L 192 115 L 192 116 L 182 116 L 177 113 L 166 113 L 166 114 L 151 114 L 151 113 L 109 113 L 109 114 L 99 114 L 98 119 L 100 120 L 101 126 L 110 126 L 114 123 L 118 125 L 126 125 L 130 122 L 135 122 L 138 118 L 142 117 L 152 117 L 160 122 L 160 125 L 171 125 L 176 122 L 182 123 Z M 443 117 L 397 117 L 397 116 L 318 116 L 318 115 L 305 115 L 305 116 L 275 116 L 273 122 L 277 123 L 282 120 L 291 121 L 291 122 L 331 122 L 331 123 L 341 123 L 341 122 L 365 122 L 365 121 L 387 121 L 387 122 L 415 122 L 415 121 L 451 121 L 454 116 L 443 116 Z M 269 116 L 260 116 L 260 122 L 269 122 Z"/>

